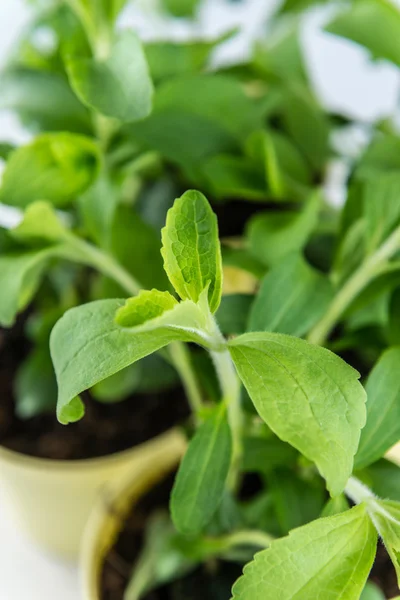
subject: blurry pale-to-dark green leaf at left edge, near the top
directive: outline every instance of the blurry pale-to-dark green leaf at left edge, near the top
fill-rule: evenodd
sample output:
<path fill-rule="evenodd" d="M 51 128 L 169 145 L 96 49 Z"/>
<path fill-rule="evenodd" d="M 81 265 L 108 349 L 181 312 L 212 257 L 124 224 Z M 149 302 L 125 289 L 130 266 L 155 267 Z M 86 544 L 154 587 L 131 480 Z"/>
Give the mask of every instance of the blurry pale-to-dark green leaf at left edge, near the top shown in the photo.
<path fill-rule="evenodd" d="M 13 67 L 1 76 L 0 85 L 0 108 L 17 112 L 28 126 L 47 131 L 92 131 L 88 110 L 58 73 Z"/>

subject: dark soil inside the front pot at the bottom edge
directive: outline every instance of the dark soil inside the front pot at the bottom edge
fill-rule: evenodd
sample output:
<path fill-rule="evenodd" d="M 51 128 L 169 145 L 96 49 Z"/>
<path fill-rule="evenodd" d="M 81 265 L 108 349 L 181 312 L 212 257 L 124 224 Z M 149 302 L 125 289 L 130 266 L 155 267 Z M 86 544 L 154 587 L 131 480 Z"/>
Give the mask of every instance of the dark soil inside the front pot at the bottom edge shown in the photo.
<path fill-rule="evenodd" d="M 167 510 L 174 476 L 155 486 L 127 516 L 123 529 L 106 556 L 100 583 L 101 600 L 123 600 L 132 568 L 140 553 L 146 521 L 151 513 Z M 242 568 L 215 561 L 179 581 L 148 593 L 143 600 L 226 600 Z"/>

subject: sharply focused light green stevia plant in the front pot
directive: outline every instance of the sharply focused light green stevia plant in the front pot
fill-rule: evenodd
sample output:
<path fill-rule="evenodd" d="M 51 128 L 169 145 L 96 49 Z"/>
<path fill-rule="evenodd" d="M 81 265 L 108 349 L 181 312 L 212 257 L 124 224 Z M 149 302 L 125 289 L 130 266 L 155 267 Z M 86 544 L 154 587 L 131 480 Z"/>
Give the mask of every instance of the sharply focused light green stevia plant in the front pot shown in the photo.
<path fill-rule="evenodd" d="M 388 233 L 389 240 L 398 227 Z M 80 416 L 77 396 L 84 389 L 171 343 L 200 345 L 215 367 L 218 399 L 195 411 L 195 433 L 172 490 L 175 531 L 165 519 L 150 522 L 125 597 L 140 598 L 152 586 L 218 557 L 250 561 L 233 586 L 234 599 L 358 599 L 378 536 L 399 577 L 398 492 L 389 494 L 393 499 L 382 499 L 365 483 L 370 480 L 375 487 L 379 472 L 381 484 L 388 485 L 393 473 L 399 480 L 398 468 L 381 460 L 400 434 L 398 385 L 392 379 L 398 349 L 388 350 L 374 367 L 365 405 L 359 373 L 318 340 L 267 331 L 268 326 L 222 335 L 215 316 L 223 314 L 217 222 L 200 192 L 186 192 L 169 210 L 161 252 L 176 295 L 153 289 L 126 301 L 100 300 L 73 308 L 51 335 L 58 411 L 64 419 Z M 308 321 L 313 304 L 304 302 L 304 290 L 314 290 L 315 280 L 302 260 L 291 259 L 288 273 L 297 267 L 303 287 L 293 297 L 280 296 L 289 302 L 289 309 L 280 307 L 281 322 L 295 326 L 290 313 L 298 311 L 315 338 L 326 316 L 314 328 Z M 249 329 L 264 307 L 271 308 L 268 293 L 280 292 L 272 287 L 275 277 L 273 271 L 267 274 Z M 341 293 L 332 292 L 325 315 Z M 375 475 L 366 469 L 369 465 Z M 390 477 L 384 475 L 386 468 Z M 262 484 L 244 502 L 240 489 L 249 472 L 259 473 Z M 260 547 L 266 549 L 251 560 Z"/>

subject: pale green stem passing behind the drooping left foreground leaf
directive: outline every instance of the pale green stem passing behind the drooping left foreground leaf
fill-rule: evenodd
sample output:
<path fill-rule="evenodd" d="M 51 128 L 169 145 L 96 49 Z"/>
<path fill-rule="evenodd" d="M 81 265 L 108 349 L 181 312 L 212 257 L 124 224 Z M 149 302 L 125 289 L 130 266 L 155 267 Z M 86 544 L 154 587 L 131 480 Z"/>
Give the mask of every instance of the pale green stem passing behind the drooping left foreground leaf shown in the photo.
<path fill-rule="evenodd" d="M 68 236 L 68 242 L 74 249 L 78 250 L 78 255 L 86 257 L 86 264 L 94 267 L 103 275 L 114 279 L 128 294 L 136 296 L 142 289 L 139 282 L 107 252 L 74 235 Z M 189 352 L 184 344 L 175 342 L 169 348 L 169 356 L 181 378 L 188 402 L 195 415 L 197 415 L 202 406 L 202 396 Z"/>

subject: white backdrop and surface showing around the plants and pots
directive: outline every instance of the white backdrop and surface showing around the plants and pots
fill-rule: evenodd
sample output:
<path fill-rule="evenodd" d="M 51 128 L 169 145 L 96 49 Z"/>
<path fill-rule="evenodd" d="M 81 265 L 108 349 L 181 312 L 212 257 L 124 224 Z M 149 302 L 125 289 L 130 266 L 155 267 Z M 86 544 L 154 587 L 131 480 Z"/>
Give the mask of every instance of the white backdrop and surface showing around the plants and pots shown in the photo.
<path fill-rule="evenodd" d="M 137 0 L 145 11 L 156 0 Z M 255 35 L 263 31 L 266 16 L 279 0 L 208 0 L 196 34 L 217 34 L 235 25 L 243 28 L 239 40 L 225 48 L 220 59 L 242 58 Z M 400 5 L 400 0 L 395 0 Z M 22 0 L 0 0 L 0 65 L 29 21 Z M 371 64 L 368 54 L 357 46 L 321 31 L 324 10 L 314 10 L 305 19 L 303 42 L 316 90 L 325 106 L 360 121 L 370 121 L 395 112 L 400 76 L 386 63 Z M 144 37 L 162 36 L 163 19 L 130 7 L 121 26 L 135 26 Z M 190 28 L 189 28 L 190 29 Z M 174 21 L 167 27 L 175 37 L 188 35 L 188 27 Z M 0 90 L 1 101 L 1 90 Z M 10 114 L 0 112 L 0 141 L 23 142 L 27 134 Z M 33 547 L 13 526 L 2 496 L 0 478 L 0 599 L 78 600 L 78 571 L 74 565 L 57 561 Z"/>

